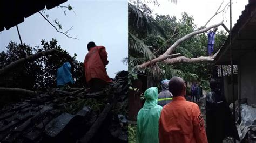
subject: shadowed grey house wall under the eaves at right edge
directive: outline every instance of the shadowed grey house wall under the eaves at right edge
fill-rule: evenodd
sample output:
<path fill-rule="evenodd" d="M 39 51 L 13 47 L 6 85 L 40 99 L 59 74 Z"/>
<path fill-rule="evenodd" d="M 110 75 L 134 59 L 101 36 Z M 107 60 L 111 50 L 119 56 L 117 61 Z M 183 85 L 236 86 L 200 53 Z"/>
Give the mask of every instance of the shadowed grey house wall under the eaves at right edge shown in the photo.
<path fill-rule="evenodd" d="M 256 104 L 256 52 L 250 51 L 239 61 L 241 75 L 241 98 L 247 98 L 248 104 Z M 238 76 L 239 81 L 239 76 Z M 238 82 L 239 83 L 239 82 Z M 239 88 L 238 88 L 239 91 Z"/>

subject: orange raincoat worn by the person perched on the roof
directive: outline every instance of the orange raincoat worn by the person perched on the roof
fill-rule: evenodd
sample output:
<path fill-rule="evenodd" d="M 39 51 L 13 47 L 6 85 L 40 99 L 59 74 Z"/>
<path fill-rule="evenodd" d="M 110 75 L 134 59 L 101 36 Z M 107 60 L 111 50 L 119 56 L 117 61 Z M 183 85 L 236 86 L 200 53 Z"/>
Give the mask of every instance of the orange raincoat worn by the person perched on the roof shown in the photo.
<path fill-rule="evenodd" d="M 108 63 L 105 47 L 92 47 L 84 59 L 86 81 L 89 82 L 92 78 L 99 78 L 105 82 L 112 82 L 105 69 Z"/>

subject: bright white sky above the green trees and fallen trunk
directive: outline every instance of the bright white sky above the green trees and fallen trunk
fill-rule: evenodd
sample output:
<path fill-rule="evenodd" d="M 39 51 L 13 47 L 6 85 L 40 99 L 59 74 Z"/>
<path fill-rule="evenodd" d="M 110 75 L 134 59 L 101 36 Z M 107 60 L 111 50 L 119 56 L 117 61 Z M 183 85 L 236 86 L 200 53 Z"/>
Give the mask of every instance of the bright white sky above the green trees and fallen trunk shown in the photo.
<path fill-rule="evenodd" d="M 181 18 L 182 12 L 187 12 L 188 15 L 193 16 L 194 22 L 200 27 L 205 25 L 208 19 L 214 15 L 221 2 L 223 2 L 223 0 L 178 0 L 177 4 L 174 4 L 167 0 L 158 0 L 160 6 L 155 6 L 153 3 L 147 5 L 149 5 L 155 14 L 176 16 L 177 19 Z M 228 2 L 230 2 L 230 0 L 225 0 L 221 9 L 223 9 Z M 232 25 L 234 26 L 242 10 L 245 9 L 245 5 L 248 4 L 248 0 L 232 0 L 232 3 Z M 217 24 L 221 22 L 221 20 L 222 15 L 219 14 L 213 18 L 207 26 Z M 224 12 L 224 24 L 228 29 L 230 28 L 230 9 L 227 9 L 226 13 Z"/>

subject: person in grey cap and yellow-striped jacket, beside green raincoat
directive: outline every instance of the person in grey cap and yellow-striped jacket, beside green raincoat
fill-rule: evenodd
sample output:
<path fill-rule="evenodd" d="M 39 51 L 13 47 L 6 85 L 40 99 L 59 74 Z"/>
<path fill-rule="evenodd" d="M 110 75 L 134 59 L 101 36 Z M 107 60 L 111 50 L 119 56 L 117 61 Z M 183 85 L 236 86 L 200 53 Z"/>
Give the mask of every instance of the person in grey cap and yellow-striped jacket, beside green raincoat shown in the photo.
<path fill-rule="evenodd" d="M 169 83 L 169 80 L 166 80 L 166 79 L 161 81 L 162 91 L 158 95 L 158 105 L 162 107 L 172 101 L 172 94 L 168 90 L 169 88 L 168 83 Z"/>

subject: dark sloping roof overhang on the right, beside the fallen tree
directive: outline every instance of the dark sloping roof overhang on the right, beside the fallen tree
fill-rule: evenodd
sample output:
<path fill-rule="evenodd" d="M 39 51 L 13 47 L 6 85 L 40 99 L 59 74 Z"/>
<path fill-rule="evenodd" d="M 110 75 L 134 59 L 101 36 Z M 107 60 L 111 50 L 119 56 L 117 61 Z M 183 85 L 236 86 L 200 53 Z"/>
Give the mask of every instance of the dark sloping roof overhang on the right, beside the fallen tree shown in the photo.
<path fill-rule="evenodd" d="M 232 32 L 232 54 L 233 64 L 237 64 L 240 56 L 247 52 L 255 50 L 256 44 L 256 1 L 249 0 L 242 11 L 237 23 L 231 30 Z M 217 65 L 230 64 L 230 35 L 221 46 L 220 52 L 217 54 L 215 61 Z"/>

